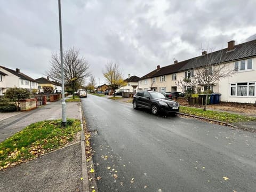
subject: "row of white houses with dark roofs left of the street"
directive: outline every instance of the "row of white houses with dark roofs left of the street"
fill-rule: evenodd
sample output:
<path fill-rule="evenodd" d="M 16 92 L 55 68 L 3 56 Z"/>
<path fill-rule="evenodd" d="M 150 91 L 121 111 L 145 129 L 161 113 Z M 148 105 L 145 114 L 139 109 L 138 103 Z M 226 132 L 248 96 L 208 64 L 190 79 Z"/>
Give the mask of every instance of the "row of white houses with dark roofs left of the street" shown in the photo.
<path fill-rule="evenodd" d="M 61 93 L 61 84 L 58 82 L 50 81 L 50 79 L 41 77 L 33 79 L 23 73 L 20 69 L 10 69 L 4 66 L 0 66 L 0 95 L 10 87 L 18 87 L 30 90 L 36 93 L 43 92 L 43 86 L 52 86 L 54 93 Z"/>

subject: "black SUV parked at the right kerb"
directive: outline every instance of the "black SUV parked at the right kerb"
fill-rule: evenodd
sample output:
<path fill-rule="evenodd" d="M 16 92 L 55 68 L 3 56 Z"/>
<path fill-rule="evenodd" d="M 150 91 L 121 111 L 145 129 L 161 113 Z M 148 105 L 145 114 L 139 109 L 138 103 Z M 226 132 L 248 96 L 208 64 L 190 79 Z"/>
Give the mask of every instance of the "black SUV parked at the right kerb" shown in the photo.
<path fill-rule="evenodd" d="M 167 99 L 162 93 L 156 91 L 140 91 L 133 96 L 132 105 L 134 109 L 138 107 L 147 108 L 151 113 L 157 115 L 163 113 L 179 112 L 179 103 Z"/>

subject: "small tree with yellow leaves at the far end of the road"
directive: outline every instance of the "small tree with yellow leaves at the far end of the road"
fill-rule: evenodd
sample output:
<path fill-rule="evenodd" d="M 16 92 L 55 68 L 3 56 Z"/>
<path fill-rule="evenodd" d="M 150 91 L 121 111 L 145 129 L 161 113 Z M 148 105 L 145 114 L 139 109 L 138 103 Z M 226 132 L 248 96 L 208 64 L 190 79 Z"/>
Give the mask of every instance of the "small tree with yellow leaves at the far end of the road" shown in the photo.
<path fill-rule="evenodd" d="M 103 71 L 103 76 L 105 77 L 106 82 L 109 84 L 109 86 L 114 92 L 116 89 L 118 89 L 119 86 L 123 86 L 126 84 L 123 79 L 123 74 L 119 69 L 117 63 L 107 63 L 107 65 L 105 66 L 105 71 Z"/>

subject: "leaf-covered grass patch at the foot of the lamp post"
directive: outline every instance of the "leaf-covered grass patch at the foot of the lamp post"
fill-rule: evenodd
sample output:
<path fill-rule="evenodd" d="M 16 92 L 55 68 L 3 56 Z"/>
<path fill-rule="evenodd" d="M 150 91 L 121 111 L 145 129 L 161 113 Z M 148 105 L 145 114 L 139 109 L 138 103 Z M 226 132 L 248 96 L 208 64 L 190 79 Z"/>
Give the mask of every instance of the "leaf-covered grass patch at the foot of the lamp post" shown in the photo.
<path fill-rule="evenodd" d="M 66 127 L 61 119 L 33 123 L 0 143 L 0 170 L 63 147 L 79 131 L 78 119 L 67 119 Z"/>

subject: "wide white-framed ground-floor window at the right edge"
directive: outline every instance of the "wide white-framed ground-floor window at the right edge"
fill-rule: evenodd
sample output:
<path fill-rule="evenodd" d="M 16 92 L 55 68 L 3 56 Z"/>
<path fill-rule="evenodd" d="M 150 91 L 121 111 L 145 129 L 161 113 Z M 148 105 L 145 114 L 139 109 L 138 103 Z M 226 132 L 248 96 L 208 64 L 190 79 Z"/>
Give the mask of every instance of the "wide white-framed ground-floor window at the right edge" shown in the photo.
<path fill-rule="evenodd" d="M 231 83 L 230 95 L 238 97 L 255 96 L 255 82 L 249 83 Z"/>

